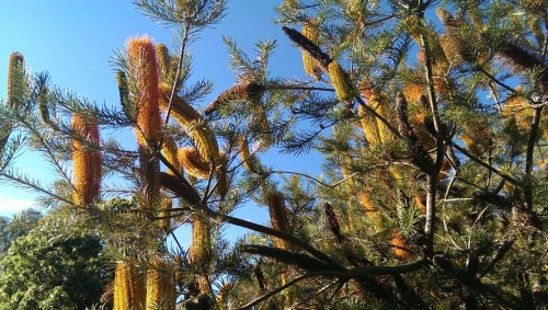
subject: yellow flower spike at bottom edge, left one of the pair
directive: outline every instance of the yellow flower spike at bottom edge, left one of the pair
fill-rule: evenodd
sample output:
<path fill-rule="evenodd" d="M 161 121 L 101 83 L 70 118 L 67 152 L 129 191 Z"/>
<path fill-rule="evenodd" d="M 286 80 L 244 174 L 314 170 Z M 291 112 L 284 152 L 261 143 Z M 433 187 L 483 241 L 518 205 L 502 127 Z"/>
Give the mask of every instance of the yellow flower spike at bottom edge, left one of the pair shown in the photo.
<path fill-rule="evenodd" d="M 113 310 L 144 310 L 146 305 L 146 279 L 135 266 L 126 262 L 116 263 L 114 272 Z"/>

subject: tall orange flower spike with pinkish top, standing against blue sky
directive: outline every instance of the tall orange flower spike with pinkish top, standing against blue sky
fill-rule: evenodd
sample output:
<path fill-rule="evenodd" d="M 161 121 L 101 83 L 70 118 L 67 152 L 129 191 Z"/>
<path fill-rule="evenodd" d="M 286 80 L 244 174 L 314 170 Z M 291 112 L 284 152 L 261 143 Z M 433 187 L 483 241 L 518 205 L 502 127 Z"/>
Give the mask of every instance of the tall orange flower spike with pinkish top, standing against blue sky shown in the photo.
<path fill-rule="evenodd" d="M 160 136 L 160 107 L 158 104 L 158 69 L 156 49 L 146 36 L 132 38 L 127 43 L 130 76 L 137 83 L 137 142 L 147 147 Z"/>

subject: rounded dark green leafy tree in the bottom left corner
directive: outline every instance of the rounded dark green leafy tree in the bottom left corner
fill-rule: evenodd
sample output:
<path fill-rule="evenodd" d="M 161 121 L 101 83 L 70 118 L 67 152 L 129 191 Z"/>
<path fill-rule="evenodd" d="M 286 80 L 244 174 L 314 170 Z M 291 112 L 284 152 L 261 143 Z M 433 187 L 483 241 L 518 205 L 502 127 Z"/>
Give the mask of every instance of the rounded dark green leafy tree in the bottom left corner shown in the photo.
<path fill-rule="evenodd" d="M 1 309 L 84 309 L 112 278 L 96 236 L 47 215 L 0 261 Z M 22 228 L 23 229 L 23 228 Z"/>

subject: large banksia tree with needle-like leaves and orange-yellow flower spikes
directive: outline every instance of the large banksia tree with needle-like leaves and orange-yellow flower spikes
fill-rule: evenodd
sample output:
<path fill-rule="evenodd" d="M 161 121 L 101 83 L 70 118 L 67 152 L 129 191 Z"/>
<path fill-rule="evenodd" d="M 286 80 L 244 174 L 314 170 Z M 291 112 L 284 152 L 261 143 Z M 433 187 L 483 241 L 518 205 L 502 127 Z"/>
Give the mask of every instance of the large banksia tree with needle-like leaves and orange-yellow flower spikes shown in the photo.
<path fill-rule="evenodd" d="M 114 58 L 119 104 L 28 76 L 13 53 L 0 110 L 0 177 L 98 231 L 114 309 L 546 306 L 546 1 L 282 1 L 285 42 L 225 38 L 225 91 L 191 79 L 189 46 L 227 1 L 135 3 L 178 46 L 130 38 Z M 281 44 L 301 49 L 306 77 L 274 76 Z M 101 138 L 122 127 L 136 149 Z M 10 165 L 22 148 L 55 184 Z M 320 175 L 263 160 L 308 152 Z M 233 216 L 249 204 L 269 226 Z M 226 240 L 227 225 L 249 233 Z"/>

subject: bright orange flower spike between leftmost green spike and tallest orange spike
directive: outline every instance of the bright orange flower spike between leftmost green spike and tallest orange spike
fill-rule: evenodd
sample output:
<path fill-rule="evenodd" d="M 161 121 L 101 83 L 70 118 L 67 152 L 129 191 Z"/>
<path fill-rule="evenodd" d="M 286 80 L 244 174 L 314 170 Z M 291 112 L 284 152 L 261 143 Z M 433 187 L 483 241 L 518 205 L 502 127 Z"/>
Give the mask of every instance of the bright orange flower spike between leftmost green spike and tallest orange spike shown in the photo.
<path fill-rule="evenodd" d="M 98 198 L 101 186 L 99 126 L 75 114 L 72 129 L 78 135 L 72 139 L 72 200 L 75 205 L 83 208 Z"/>

